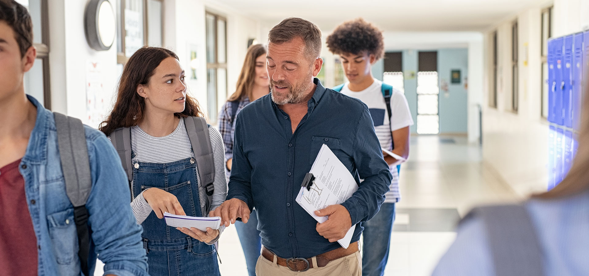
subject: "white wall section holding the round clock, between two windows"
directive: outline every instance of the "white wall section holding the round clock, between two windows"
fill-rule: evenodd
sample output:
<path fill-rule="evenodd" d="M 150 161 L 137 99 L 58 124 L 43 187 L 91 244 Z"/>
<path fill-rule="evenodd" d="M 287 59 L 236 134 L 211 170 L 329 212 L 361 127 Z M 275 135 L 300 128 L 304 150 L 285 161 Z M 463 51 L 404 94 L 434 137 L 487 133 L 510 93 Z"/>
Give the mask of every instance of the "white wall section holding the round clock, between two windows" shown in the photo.
<path fill-rule="evenodd" d="M 84 35 L 86 1 L 51 0 L 49 9 L 49 68 L 51 106 L 54 111 L 88 123 L 86 87 L 88 62 L 98 62 L 103 92 L 110 100 L 118 81 L 117 41 L 108 51 L 95 51 Z M 115 6 L 116 0 L 111 0 Z M 92 125 L 97 127 L 97 125 Z"/>

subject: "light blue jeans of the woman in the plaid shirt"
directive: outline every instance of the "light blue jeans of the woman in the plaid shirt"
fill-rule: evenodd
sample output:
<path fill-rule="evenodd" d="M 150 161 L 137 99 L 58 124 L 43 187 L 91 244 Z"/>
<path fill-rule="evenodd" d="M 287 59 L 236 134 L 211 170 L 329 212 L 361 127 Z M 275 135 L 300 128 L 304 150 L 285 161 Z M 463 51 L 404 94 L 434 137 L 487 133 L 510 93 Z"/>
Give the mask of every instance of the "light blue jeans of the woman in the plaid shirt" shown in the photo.
<path fill-rule="evenodd" d="M 250 214 L 250 220 L 247 223 L 241 221 L 235 222 L 239 242 L 243 249 L 243 255 L 246 256 L 247 273 L 249 276 L 256 276 L 256 262 L 262 251 L 262 238 L 260 231 L 257 230 L 257 213 L 254 209 Z"/>

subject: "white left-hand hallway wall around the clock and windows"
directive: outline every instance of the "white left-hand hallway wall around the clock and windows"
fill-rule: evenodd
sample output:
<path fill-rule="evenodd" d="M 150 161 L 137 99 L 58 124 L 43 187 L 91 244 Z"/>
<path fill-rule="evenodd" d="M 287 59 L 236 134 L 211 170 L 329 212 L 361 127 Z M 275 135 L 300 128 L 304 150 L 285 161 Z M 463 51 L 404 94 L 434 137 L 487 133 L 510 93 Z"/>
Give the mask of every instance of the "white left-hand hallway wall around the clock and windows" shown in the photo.
<path fill-rule="evenodd" d="M 110 0 L 113 6 L 118 0 Z M 52 109 L 81 118 L 88 124 L 86 87 L 89 62 L 101 67 L 106 109 L 116 95 L 119 80 L 117 68 L 117 41 L 108 51 L 95 51 L 88 46 L 84 35 L 84 10 L 88 1 L 51 0 L 49 2 L 49 62 L 51 68 Z M 256 38 L 264 43 L 266 26 L 256 19 L 239 14 L 227 6 L 213 1 L 164 0 L 164 47 L 176 52 L 181 65 L 190 70 L 190 50 L 197 49 L 200 66 L 197 79 L 188 79 L 191 94 L 207 110 L 206 30 L 205 11 L 227 18 L 227 95 L 219 97 L 219 107 L 235 90 L 237 77 L 247 51 L 247 39 Z M 216 118 L 210 114 L 209 118 Z M 91 124 L 92 127 L 97 127 Z"/>

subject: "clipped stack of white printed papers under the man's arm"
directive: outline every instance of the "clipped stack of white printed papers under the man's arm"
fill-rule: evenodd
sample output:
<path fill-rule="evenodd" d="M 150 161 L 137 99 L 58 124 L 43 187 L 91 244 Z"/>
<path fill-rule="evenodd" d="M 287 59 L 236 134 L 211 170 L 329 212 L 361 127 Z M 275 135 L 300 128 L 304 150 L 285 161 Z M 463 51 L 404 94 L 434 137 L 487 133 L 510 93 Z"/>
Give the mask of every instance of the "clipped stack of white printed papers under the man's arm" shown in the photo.
<path fill-rule="evenodd" d="M 356 180 L 345 165 L 333 154 L 327 145 L 323 144 L 317 158 L 311 167 L 315 182 L 310 190 L 301 187 L 296 202 L 319 223 L 327 221 L 327 217 L 317 217 L 315 211 L 334 205 L 342 204 L 358 190 Z M 356 225 L 348 230 L 346 236 L 338 240 L 343 248 L 348 248 Z"/>

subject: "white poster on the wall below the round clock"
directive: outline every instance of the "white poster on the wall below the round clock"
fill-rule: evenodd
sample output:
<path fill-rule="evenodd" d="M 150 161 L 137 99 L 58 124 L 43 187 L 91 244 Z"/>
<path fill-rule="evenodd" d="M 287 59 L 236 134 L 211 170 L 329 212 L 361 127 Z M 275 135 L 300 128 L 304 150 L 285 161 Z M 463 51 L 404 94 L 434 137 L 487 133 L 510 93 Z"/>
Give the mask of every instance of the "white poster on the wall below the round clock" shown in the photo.
<path fill-rule="evenodd" d="M 84 124 L 98 128 L 107 112 L 104 98 L 101 64 L 88 61 L 86 65 L 86 117 Z"/>

